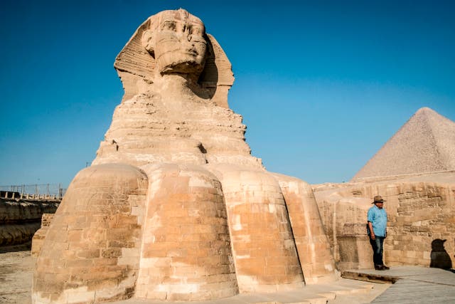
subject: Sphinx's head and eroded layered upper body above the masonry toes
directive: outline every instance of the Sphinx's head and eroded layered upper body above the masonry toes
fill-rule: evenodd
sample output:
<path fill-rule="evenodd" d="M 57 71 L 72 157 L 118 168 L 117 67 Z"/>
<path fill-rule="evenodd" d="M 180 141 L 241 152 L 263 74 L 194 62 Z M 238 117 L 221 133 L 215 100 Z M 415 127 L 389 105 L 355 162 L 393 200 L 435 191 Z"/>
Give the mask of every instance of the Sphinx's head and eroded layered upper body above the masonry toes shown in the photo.
<path fill-rule="evenodd" d="M 230 163 L 262 168 L 228 108 L 228 58 L 196 16 L 147 19 L 114 64 L 125 89 L 93 164 Z"/>

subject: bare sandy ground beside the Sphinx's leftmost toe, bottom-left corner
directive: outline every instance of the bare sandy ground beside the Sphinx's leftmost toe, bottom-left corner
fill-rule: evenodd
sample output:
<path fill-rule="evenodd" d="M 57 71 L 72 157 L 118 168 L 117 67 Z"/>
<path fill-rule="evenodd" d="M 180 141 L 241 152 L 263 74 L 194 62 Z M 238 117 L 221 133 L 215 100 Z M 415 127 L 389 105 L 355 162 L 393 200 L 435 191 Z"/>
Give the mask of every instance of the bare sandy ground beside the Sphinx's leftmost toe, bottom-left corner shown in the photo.
<path fill-rule="evenodd" d="M 31 304 L 31 251 L 23 247 L 16 247 L 14 250 L 0 251 L 0 303 Z"/>

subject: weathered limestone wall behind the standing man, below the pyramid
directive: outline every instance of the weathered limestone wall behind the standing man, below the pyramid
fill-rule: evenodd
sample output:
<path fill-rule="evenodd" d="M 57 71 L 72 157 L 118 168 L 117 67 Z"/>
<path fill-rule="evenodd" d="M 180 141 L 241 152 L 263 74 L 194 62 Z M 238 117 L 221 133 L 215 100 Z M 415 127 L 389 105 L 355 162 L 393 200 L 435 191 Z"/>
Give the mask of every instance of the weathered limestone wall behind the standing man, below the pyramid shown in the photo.
<path fill-rule="evenodd" d="M 366 234 L 366 213 L 373 196 L 378 194 L 387 200 L 387 264 L 432 266 L 440 265 L 444 257 L 451 259 L 444 263 L 455 265 L 455 173 L 445 172 L 370 179 L 315 192 L 339 268 L 371 266 L 373 253 Z M 434 246 L 437 242 L 439 248 Z"/>

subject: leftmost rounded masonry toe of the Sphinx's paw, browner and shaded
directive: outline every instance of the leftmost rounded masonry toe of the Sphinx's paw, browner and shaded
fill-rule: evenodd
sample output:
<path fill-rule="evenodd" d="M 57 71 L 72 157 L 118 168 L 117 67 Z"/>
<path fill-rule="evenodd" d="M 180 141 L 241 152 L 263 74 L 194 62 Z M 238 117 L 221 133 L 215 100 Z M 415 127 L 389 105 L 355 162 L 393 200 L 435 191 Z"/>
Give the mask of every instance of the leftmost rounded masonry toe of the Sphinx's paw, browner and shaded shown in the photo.
<path fill-rule="evenodd" d="M 88 167 L 77 174 L 45 234 L 33 275 L 33 303 L 132 296 L 142 223 L 131 209 L 143 208 L 144 202 L 130 198 L 144 198 L 146 181 L 143 172 L 124 164 Z M 130 263 L 122 263 L 122 248 L 135 257 Z"/>

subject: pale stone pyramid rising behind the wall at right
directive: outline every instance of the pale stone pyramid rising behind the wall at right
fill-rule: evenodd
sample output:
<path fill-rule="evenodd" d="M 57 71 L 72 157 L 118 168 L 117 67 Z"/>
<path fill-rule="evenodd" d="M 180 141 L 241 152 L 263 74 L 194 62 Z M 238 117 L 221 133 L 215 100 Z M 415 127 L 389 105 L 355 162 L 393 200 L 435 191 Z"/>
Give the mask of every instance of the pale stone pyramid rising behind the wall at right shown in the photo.
<path fill-rule="evenodd" d="M 455 170 L 455 122 L 421 108 L 351 181 L 448 170 Z"/>

